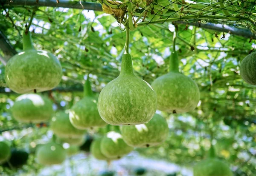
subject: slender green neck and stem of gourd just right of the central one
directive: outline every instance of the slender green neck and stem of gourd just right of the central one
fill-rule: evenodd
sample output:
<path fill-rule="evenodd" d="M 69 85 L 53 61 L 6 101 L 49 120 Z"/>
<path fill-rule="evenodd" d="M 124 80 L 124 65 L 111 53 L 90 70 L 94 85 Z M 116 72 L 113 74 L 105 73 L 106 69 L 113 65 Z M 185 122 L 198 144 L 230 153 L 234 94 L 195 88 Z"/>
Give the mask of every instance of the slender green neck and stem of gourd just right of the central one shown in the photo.
<path fill-rule="evenodd" d="M 170 69 L 169 71 L 171 72 L 179 72 L 179 59 L 178 59 L 178 54 L 177 51 L 175 50 L 175 45 L 176 45 L 176 39 L 177 39 L 177 33 L 178 33 L 178 28 L 175 26 L 175 31 L 173 32 L 173 39 L 172 39 L 172 53 L 170 56 Z"/>

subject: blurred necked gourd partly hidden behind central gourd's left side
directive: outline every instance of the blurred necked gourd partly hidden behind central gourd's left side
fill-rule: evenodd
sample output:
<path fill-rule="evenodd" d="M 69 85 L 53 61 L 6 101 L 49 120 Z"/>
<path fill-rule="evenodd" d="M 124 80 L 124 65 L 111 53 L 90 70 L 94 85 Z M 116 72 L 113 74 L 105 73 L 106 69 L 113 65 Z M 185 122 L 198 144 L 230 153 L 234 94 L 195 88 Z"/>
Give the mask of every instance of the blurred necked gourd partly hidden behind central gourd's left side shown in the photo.
<path fill-rule="evenodd" d="M 97 99 L 91 90 L 89 75 L 84 84 L 84 98 L 70 109 L 69 118 L 71 124 L 80 130 L 107 125 L 99 115 Z"/>

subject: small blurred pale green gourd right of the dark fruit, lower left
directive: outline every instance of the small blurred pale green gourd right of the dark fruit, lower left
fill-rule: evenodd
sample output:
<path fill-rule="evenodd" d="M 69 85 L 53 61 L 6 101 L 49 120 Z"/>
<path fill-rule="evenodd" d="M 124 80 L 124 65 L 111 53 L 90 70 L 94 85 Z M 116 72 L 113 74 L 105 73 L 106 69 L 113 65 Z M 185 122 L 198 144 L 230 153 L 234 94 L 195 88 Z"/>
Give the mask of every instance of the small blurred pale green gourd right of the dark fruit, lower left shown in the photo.
<path fill-rule="evenodd" d="M 38 148 L 36 158 L 42 165 L 57 165 L 66 159 L 66 151 L 61 145 L 49 142 Z"/>

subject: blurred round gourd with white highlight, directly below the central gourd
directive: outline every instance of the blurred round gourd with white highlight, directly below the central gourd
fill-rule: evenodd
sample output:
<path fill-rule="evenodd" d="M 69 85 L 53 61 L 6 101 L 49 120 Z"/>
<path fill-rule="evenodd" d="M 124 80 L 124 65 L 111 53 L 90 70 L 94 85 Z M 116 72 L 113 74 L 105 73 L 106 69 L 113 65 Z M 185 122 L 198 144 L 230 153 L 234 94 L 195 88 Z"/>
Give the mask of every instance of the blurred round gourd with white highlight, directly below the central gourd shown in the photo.
<path fill-rule="evenodd" d="M 166 119 L 158 114 L 145 124 L 121 126 L 120 130 L 126 144 L 141 148 L 159 145 L 169 134 Z"/>

